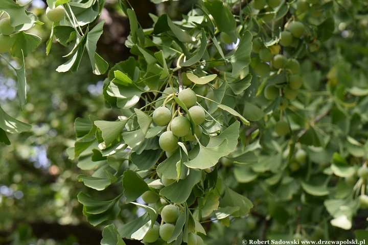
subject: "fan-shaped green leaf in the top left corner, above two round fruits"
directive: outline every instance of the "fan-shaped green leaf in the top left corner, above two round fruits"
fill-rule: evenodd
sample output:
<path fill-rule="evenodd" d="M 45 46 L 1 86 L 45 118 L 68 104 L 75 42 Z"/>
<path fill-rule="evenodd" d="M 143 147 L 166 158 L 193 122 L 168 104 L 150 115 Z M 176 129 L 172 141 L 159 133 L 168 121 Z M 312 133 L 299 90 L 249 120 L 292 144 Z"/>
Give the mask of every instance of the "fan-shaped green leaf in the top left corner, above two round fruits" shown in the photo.
<path fill-rule="evenodd" d="M 19 6 L 13 0 L 2 0 L 0 10 L 7 12 L 12 27 L 32 22 L 31 18 L 26 14 L 25 6 Z"/>

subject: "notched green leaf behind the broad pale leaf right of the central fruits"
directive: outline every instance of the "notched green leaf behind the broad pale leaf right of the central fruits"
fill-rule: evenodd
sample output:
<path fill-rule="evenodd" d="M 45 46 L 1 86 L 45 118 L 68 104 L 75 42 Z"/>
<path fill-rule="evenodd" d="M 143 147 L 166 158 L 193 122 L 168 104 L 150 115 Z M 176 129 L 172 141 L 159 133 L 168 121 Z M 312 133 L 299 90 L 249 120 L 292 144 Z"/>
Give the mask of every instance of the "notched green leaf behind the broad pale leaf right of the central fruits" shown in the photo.
<path fill-rule="evenodd" d="M 221 144 L 224 139 L 227 139 L 227 147 L 223 156 L 233 152 L 238 144 L 240 122 L 235 121 L 232 125 L 227 127 L 221 134 L 216 137 L 210 137 L 210 142 L 206 147 L 212 148 Z"/>

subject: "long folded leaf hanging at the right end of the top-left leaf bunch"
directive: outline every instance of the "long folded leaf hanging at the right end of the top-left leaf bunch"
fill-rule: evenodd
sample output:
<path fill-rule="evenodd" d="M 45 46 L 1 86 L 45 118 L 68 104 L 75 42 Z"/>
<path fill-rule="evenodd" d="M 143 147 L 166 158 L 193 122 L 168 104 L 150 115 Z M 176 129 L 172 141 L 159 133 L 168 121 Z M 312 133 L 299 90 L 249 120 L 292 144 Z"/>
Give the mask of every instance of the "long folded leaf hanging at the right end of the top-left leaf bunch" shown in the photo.
<path fill-rule="evenodd" d="M 102 35 L 102 28 L 104 23 L 105 20 L 100 21 L 92 30 L 87 33 L 87 40 L 85 44 L 85 48 L 87 50 L 89 60 L 92 65 L 93 73 L 96 75 L 104 74 L 108 68 L 108 63 L 96 53 L 97 41 Z"/>

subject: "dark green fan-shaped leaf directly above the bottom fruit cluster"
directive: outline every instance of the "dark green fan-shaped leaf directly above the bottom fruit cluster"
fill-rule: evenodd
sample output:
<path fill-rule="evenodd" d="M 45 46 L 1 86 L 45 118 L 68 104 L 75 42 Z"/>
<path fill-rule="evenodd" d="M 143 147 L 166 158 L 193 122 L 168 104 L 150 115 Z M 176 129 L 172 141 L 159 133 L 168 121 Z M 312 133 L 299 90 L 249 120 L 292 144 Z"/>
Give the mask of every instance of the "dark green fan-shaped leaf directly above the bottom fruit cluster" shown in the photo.
<path fill-rule="evenodd" d="M 172 203 L 183 203 L 187 201 L 192 188 L 200 181 L 201 171 L 190 169 L 187 178 L 178 180 L 160 190 L 160 195 L 168 198 Z"/>

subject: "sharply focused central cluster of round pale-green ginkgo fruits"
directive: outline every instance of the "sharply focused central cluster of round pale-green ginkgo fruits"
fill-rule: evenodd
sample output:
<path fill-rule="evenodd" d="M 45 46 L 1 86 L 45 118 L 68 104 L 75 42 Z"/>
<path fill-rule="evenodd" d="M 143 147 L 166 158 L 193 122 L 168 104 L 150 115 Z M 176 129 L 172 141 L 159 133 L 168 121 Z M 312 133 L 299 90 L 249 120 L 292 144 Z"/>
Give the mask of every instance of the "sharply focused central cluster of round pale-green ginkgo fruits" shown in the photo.
<path fill-rule="evenodd" d="M 187 107 L 196 125 L 194 135 L 192 134 L 189 116 L 182 108 L 175 107 L 173 96 L 177 96 Z M 192 89 L 182 89 L 177 93 L 175 88 L 168 87 L 164 90 L 162 98 L 159 99 L 164 102 L 162 105 L 159 101 L 156 103 L 156 109 L 152 117 L 157 126 L 167 126 L 167 131 L 159 136 L 158 143 L 162 150 L 168 154 L 175 151 L 178 148 L 179 137 L 189 141 L 201 137 L 202 128 L 199 125 L 204 121 L 205 113 L 201 106 L 196 105 L 197 95 Z"/>

